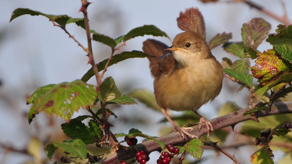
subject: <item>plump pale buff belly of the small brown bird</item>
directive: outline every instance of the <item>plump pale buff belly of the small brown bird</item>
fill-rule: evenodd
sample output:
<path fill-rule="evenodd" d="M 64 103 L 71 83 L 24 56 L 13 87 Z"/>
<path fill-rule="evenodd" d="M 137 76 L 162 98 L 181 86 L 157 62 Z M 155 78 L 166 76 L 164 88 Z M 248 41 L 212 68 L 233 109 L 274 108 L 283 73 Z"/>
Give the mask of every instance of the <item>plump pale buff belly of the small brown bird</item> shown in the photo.
<path fill-rule="evenodd" d="M 175 111 L 197 110 L 218 96 L 222 88 L 223 73 L 222 69 L 210 72 L 179 70 L 155 80 L 154 93 L 160 107 Z"/>

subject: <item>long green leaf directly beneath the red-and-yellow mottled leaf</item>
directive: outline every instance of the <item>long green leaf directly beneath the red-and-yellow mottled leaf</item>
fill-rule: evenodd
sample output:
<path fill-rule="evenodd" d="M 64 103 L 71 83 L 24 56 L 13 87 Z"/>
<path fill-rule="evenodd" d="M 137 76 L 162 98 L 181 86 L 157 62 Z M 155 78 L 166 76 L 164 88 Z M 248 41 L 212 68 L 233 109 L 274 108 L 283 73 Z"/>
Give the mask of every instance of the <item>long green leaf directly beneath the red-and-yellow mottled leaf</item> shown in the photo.
<path fill-rule="evenodd" d="M 252 97 L 257 97 L 259 100 L 262 98 L 262 96 L 270 90 L 273 86 L 278 85 L 282 82 L 291 82 L 292 81 L 292 73 L 288 74 L 282 74 L 279 78 L 267 83 L 265 86 L 260 87 L 258 90 L 256 90 Z"/>

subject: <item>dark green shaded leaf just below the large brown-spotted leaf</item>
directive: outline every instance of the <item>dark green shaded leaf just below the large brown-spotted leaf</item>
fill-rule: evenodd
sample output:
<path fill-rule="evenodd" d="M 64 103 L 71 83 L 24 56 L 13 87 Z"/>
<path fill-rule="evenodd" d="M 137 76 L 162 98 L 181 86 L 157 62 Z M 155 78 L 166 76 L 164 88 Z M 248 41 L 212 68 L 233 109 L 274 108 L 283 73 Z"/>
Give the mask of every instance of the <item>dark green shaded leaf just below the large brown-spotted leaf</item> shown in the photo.
<path fill-rule="evenodd" d="M 72 119 L 68 123 L 61 124 L 61 127 L 66 135 L 72 139 L 81 139 L 85 144 L 95 143 L 102 137 L 100 127 L 93 120 L 89 121 L 89 127 L 78 119 Z"/>

